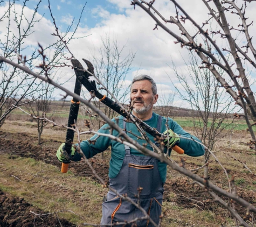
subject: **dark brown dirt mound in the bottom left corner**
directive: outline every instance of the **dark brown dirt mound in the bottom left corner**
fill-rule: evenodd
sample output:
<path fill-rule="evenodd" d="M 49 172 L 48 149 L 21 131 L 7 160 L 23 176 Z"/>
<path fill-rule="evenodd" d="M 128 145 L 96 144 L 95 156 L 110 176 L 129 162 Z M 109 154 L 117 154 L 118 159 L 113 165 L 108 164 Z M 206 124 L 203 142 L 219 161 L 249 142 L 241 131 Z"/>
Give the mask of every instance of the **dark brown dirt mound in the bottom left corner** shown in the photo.
<path fill-rule="evenodd" d="M 12 197 L 0 191 L 0 226 L 1 227 L 32 227 L 32 226 L 75 226 L 65 219 L 58 218 L 58 214 L 37 216 L 44 214 L 38 208 L 24 201 L 23 198 Z"/>

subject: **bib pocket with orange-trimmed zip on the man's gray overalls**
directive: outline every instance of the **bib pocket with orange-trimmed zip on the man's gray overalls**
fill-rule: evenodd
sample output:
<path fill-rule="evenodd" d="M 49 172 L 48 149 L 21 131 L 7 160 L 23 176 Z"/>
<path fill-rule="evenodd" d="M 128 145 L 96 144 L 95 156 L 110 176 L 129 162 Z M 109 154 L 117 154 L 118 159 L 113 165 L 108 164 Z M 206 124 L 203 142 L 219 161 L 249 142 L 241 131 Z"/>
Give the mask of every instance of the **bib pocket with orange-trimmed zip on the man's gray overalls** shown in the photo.
<path fill-rule="evenodd" d="M 149 196 L 152 193 L 153 183 L 153 162 L 146 164 L 128 164 L 128 191 L 130 196 L 138 194 L 138 188 L 143 188 L 140 196 Z"/>

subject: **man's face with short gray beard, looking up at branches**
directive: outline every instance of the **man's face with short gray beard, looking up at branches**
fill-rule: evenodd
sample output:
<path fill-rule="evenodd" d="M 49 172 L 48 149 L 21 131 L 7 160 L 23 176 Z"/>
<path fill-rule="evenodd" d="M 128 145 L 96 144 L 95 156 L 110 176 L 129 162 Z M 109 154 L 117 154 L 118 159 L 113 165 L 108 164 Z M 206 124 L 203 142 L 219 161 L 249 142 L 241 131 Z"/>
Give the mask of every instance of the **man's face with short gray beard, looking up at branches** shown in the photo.
<path fill-rule="evenodd" d="M 149 80 L 141 80 L 133 83 L 130 99 L 133 111 L 139 114 L 152 111 L 158 95 L 153 95 L 152 84 Z"/>

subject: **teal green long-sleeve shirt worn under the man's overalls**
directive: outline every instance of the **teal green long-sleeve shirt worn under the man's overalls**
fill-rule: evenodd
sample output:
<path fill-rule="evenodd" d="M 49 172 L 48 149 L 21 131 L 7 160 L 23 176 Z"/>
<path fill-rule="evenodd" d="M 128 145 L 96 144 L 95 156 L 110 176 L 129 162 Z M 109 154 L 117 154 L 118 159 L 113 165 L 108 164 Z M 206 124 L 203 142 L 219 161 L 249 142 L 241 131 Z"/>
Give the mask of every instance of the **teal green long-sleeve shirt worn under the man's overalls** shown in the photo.
<path fill-rule="evenodd" d="M 159 115 L 157 115 L 156 113 L 153 112 L 153 116 L 149 119 L 149 120 L 145 120 L 144 122 L 146 124 L 148 124 L 151 127 L 156 128 L 157 127 L 157 119 L 158 119 Z M 123 128 L 123 117 L 117 117 L 112 119 L 112 121 L 114 123 L 117 123 L 119 125 L 119 127 Z M 163 133 L 164 131 L 166 131 L 166 124 L 167 122 L 167 118 L 163 117 L 162 118 L 162 127 L 161 127 L 161 133 Z M 189 134 L 188 132 L 184 131 L 182 129 L 181 126 L 179 126 L 174 120 L 172 120 L 171 118 L 168 118 L 168 125 L 169 128 L 176 132 L 178 135 L 182 136 L 182 137 L 186 137 L 186 138 L 193 138 L 194 140 L 197 140 L 200 142 L 200 140 L 194 136 L 191 136 L 191 134 Z M 127 131 L 132 131 L 133 134 L 136 134 L 137 136 L 141 136 L 140 132 L 137 130 L 137 127 L 135 126 L 135 124 L 133 123 L 127 123 L 126 125 L 127 127 Z M 105 124 L 101 127 L 101 129 L 99 130 L 99 132 L 101 133 L 106 133 L 109 134 L 109 125 Z M 131 133 L 127 133 L 129 137 L 131 137 L 132 139 L 136 140 L 139 144 L 145 144 L 146 141 L 142 140 L 142 139 L 137 139 L 137 137 Z M 113 131 L 113 136 L 117 136 L 118 133 L 117 131 Z M 150 134 L 147 133 L 148 138 L 154 142 L 154 137 L 151 136 Z M 96 134 L 90 139 L 90 140 L 94 140 L 96 138 Z M 89 144 L 87 140 L 82 141 L 80 143 L 80 147 L 82 152 L 84 152 L 86 158 L 92 158 L 95 154 L 98 154 L 100 152 L 105 151 L 109 146 L 111 146 L 111 159 L 109 161 L 109 178 L 114 178 L 120 171 L 121 166 L 122 166 L 122 162 L 124 159 L 124 145 L 121 143 L 118 143 L 117 141 L 114 141 L 108 137 L 99 137 L 96 140 L 96 143 L 93 144 Z M 181 147 L 185 154 L 193 156 L 193 157 L 198 157 L 204 154 L 204 147 L 198 143 L 196 143 L 195 141 L 192 140 L 188 140 L 188 139 L 184 139 L 181 138 L 181 141 L 178 145 L 179 147 Z M 147 145 L 147 148 L 149 150 L 152 150 L 152 148 L 150 147 L 150 145 Z M 165 148 L 165 153 L 167 152 L 167 149 Z M 134 150 L 133 148 L 131 148 L 130 153 L 133 155 L 138 155 L 138 156 L 142 156 L 143 154 L 140 153 L 137 150 Z M 80 161 L 81 160 L 81 156 L 80 154 L 76 154 L 73 158 L 73 161 Z M 167 165 L 158 161 L 158 171 L 160 173 L 161 176 L 161 180 L 164 183 L 166 180 L 166 174 L 167 174 Z"/>

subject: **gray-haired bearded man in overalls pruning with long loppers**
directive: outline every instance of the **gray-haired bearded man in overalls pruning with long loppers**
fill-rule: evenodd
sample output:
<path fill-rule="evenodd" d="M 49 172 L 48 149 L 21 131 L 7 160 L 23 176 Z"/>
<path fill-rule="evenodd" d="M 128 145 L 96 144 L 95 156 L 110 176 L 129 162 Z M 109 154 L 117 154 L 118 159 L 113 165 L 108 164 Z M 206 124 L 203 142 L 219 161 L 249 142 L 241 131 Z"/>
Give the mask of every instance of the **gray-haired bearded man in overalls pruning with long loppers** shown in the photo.
<path fill-rule="evenodd" d="M 200 142 L 196 137 L 185 132 L 171 118 L 165 118 L 153 112 L 153 105 L 157 102 L 158 95 L 155 81 L 147 75 L 139 75 L 133 79 L 130 90 L 130 99 L 133 107 L 133 115 L 143 120 L 145 123 L 157 129 L 157 131 L 169 134 L 169 141 L 165 140 L 168 147 L 178 145 L 185 154 L 197 157 L 204 154 L 204 147 L 196 141 L 179 138 L 178 135 L 187 138 L 193 138 Z M 136 140 L 138 143 L 147 144 L 149 150 L 153 150 L 150 144 L 145 140 L 137 139 L 141 137 L 135 124 L 127 123 L 123 117 L 112 119 L 121 128 L 126 129 L 129 137 Z M 168 124 L 169 130 L 165 124 Z M 129 133 L 132 131 L 132 133 Z M 109 134 L 108 124 L 103 125 L 99 130 L 101 133 Z M 153 136 L 146 133 L 148 138 L 154 142 Z M 114 136 L 118 133 L 114 130 Z M 96 135 L 90 140 L 94 140 Z M 57 151 L 57 157 L 60 161 L 66 159 L 61 156 L 61 145 Z M 127 194 L 135 202 L 137 202 L 138 188 L 140 190 L 141 207 L 147 211 L 153 221 L 158 224 L 161 215 L 163 185 L 167 175 L 167 165 L 158 161 L 155 158 L 145 156 L 139 151 L 130 148 L 129 146 L 117 143 L 108 137 L 99 137 L 95 144 L 90 144 L 88 141 L 82 141 L 80 147 L 87 158 L 93 157 L 95 154 L 105 151 L 111 146 L 112 153 L 109 161 L 109 185 L 117 190 L 121 195 Z M 165 147 L 164 152 L 167 152 Z M 72 160 L 81 160 L 80 154 L 73 149 Z M 128 201 L 123 201 L 112 191 L 107 194 L 107 201 L 102 204 L 102 219 L 101 224 L 114 224 L 116 222 L 131 221 L 139 218 L 137 226 L 152 226 L 146 219 L 140 219 L 144 215 L 134 205 Z"/>

